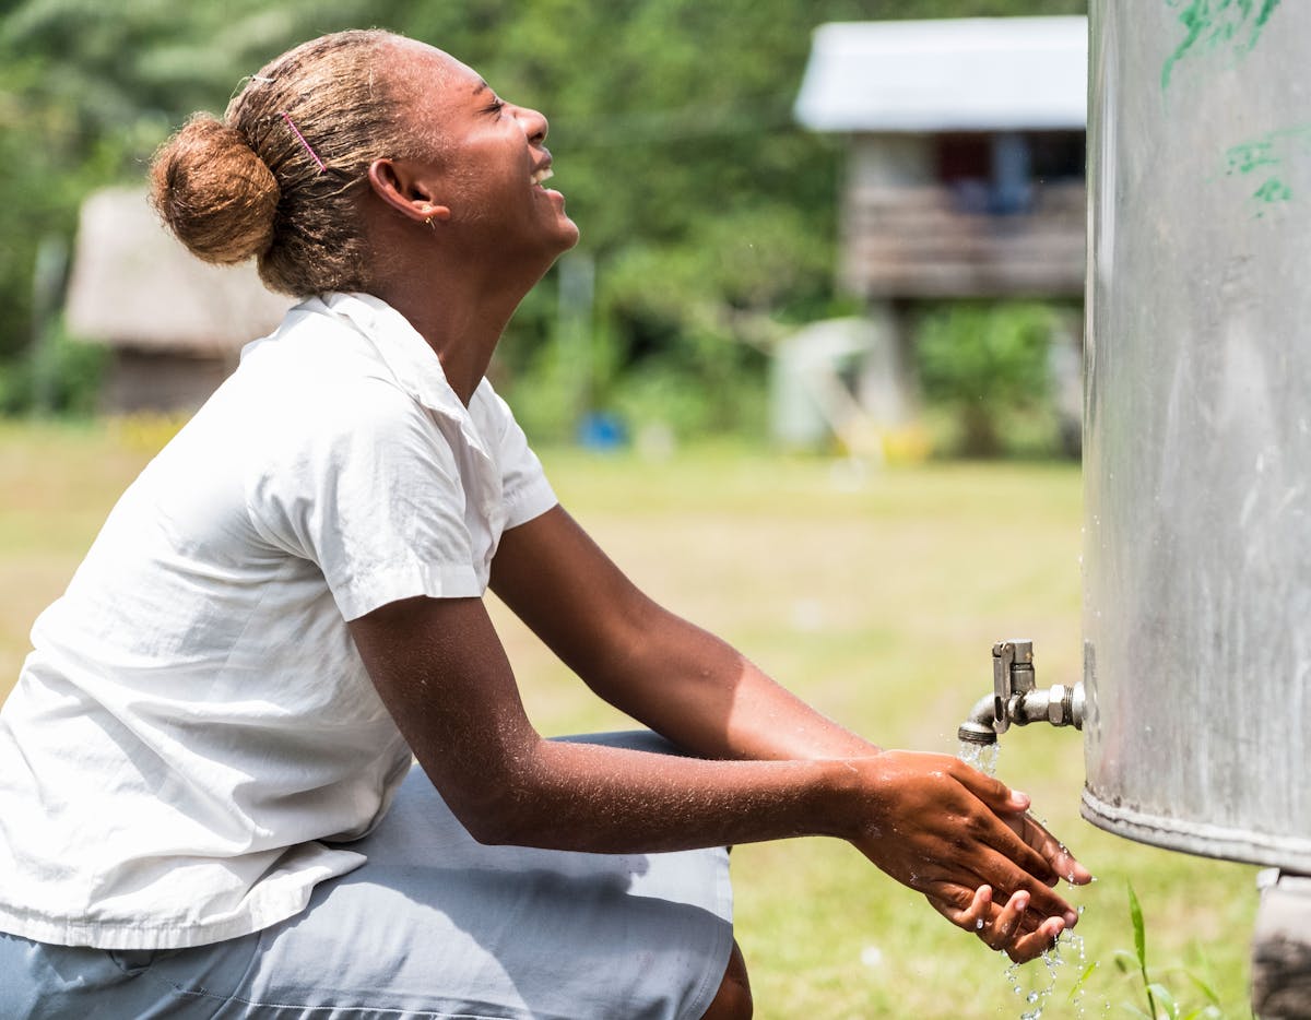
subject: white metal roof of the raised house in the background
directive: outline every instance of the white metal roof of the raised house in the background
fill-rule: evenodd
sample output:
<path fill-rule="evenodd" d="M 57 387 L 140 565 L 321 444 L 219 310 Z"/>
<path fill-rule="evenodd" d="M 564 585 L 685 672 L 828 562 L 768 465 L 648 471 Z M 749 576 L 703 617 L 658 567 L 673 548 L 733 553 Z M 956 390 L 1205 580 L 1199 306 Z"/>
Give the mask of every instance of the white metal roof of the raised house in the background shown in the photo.
<path fill-rule="evenodd" d="M 794 113 L 818 131 L 1083 128 L 1088 20 L 830 22 Z"/>

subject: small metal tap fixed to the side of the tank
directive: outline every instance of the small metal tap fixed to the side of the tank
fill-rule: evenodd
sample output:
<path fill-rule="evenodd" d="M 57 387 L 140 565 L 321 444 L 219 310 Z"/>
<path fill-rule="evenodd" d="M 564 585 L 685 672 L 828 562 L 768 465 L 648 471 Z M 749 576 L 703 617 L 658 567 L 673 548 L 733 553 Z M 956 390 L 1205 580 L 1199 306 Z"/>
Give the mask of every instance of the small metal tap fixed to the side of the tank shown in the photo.
<path fill-rule="evenodd" d="M 992 694 L 981 697 L 956 736 L 969 743 L 996 743 L 1011 725 L 1050 722 L 1083 729 L 1083 682 L 1040 690 L 1033 673 L 1032 641 L 992 645 Z"/>

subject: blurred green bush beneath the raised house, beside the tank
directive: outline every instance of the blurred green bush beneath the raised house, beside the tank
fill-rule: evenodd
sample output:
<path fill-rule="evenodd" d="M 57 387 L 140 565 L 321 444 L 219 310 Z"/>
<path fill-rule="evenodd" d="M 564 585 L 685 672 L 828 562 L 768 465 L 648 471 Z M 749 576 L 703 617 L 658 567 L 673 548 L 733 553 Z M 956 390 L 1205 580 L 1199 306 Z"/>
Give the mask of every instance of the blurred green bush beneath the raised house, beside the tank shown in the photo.
<path fill-rule="evenodd" d="M 1059 340 L 1062 311 L 1050 304 L 926 308 L 914 350 L 924 400 L 945 414 L 952 433 L 939 447 L 977 458 L 1058 452 L 1051 345 Z"/>

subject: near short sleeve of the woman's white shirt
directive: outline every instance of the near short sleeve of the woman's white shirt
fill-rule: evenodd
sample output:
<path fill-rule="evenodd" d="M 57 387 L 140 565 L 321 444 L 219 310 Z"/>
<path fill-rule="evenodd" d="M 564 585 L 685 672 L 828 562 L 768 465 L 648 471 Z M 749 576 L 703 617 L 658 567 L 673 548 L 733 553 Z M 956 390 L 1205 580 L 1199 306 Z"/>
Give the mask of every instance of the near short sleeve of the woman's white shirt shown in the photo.
<path fill-rule="evenodd" d="M 317 408 L 258 459 L 256 528 L 319 566 L 346 620 L 416 595 L 480 597 L 456 458 L 423 409 L 376 379 Z"/>

